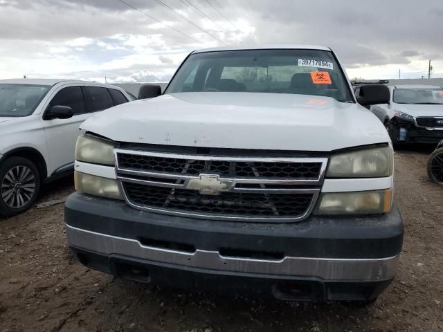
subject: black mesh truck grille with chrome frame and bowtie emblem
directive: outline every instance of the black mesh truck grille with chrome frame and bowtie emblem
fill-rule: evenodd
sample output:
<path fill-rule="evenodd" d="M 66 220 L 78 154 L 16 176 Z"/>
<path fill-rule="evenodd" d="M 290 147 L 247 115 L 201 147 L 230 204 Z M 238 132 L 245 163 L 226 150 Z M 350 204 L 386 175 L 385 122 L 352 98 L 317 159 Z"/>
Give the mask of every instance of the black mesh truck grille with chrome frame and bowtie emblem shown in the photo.
<path fill-rule="evenodd" d="M 179 155 L 127 149 L 116 149 L 115 154 L 118 180 L 133 208 L 234 221 L 306 218 L 315 206 L 327 164 L 327 158 Z M 208 184 L 206 179 L 214 182 Z"/>

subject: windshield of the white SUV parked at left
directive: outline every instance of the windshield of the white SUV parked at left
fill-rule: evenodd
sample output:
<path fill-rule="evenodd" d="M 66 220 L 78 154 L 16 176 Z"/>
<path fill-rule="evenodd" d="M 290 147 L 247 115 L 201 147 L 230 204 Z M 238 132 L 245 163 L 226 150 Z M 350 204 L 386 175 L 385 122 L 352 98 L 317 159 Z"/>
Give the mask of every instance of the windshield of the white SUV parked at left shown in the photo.
<path fill-rule="evenodd" d="M 46 85 L 0 84 L 0 116 L 30 116 L 49 88 Z"/>

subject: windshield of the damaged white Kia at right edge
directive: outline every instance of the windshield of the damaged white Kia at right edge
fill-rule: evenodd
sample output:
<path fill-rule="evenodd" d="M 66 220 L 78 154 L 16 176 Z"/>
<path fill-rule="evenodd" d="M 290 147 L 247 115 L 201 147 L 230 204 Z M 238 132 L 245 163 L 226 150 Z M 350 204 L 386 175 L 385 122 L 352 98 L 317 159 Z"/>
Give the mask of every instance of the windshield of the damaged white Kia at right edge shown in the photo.
<path fill-rule="evenodd" d="M 397 104 L 443 104 L 443 89 L 395 89 Z"/>

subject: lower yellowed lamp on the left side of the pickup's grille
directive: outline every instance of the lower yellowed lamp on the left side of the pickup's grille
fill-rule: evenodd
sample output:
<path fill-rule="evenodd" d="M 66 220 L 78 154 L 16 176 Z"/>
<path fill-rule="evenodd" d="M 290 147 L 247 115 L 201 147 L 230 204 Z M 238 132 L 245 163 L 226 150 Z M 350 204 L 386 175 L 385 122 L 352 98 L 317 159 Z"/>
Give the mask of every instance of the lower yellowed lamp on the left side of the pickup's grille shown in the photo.
<path fill-rule="evenodd" d="M 100 176 L 74 172 L 75 190 L 109 199 L 123 199 L 116 180 Z"/>

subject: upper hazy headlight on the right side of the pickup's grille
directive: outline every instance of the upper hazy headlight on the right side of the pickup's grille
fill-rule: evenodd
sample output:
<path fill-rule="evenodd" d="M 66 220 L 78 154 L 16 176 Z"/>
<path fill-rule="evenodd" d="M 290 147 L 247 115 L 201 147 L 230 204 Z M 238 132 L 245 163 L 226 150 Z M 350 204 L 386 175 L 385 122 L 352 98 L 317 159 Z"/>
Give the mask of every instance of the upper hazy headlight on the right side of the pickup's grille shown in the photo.
<path fill-rule="evenodd" d="M 343 152 L 331 157 L 329 178 L 376 178 L 392 175 L 393 151 L 389 146 Z"/>

